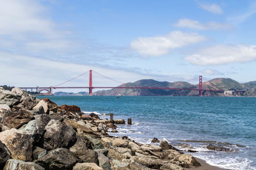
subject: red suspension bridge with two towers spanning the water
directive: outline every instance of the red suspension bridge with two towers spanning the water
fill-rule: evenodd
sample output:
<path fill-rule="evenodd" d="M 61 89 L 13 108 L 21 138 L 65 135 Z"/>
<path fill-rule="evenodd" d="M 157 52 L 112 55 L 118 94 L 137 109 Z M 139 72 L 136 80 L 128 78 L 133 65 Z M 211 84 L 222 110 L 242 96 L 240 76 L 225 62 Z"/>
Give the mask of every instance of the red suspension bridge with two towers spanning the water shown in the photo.
<path fill-rule="evenodd" d="M 88 86 L 84 86 L 84 85 Z M 203 96 L 203 91 L 210 92 L 224 92 L 224 90 L 210 90 L 203 89 L 203 79 L 202 76 L 199 76 L 199 85 L 198 89 L 184 89 L 184 88 L 170 88 L 170 87 L 124 87 L 122 86 L 122 82 L 113 80 L 112 78 L 108 78 L 96 71 L 86 71 L 79 76 L 76 76 L 70 80 L 67 80 L 58 85 L 54 85 L 51 87 L 20 87 L 26 91 L 30 90 L 44 94 L 44 95 L 52 95 L 54 89 L 89 89 L 89 95 L 92 96 L 93 89 L 163 89 L 163 90 L 196 90 L 198 91 L 199 96 Z M 42 92 L 47 93 L 42 93 Z"/>

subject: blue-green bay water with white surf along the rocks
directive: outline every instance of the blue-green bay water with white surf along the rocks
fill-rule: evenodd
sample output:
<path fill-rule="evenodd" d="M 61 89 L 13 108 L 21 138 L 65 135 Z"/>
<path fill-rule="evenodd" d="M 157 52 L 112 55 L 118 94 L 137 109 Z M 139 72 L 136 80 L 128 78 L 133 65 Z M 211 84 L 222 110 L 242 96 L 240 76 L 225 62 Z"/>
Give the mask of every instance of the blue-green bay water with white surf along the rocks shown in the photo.
<path fill-rule="evenodd" d="M 40 96 L 43 98 L 44 96 Z M 84 113 L 102 118 L 132 118 L 132 125 L 118 125 L 115 136 L 129 136 L 143 143 L 156 137 L 213 166 L 256 169 L 256 97 L 129 97 L 47 96 L 55 103 L 74 104 Z M 234 152 L 207 150 L 209 144 Z"/>

